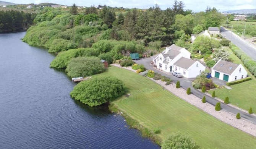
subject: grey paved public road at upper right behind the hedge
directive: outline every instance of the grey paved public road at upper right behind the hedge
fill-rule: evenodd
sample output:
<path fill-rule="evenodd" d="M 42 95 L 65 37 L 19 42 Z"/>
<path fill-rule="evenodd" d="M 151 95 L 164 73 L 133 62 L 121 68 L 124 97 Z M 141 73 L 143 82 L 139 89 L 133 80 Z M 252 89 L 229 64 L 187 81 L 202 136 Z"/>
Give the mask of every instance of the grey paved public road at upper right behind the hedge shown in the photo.
<path fill-rule="evenodd" d="M 222 36 L 225 36 L 233 44 L 243 50 L 247 55 L 256 60 L 256 49 L 250 46 L 248 40 L 241 39 L 241 37 L 237 36 L 234 33 L 231 34 L 231 31 L 228 31 L 223 27 L 220 27 L 220 34 L 222 34 Z"/>

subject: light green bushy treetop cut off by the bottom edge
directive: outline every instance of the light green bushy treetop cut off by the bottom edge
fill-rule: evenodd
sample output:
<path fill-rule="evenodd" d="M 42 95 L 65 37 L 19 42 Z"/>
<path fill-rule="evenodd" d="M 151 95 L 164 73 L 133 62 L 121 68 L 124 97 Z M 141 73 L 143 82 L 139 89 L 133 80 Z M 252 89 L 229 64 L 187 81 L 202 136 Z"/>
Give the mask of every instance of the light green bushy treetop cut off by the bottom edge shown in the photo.
<path fill-rule="evenodd" d="M 188 134 L 173 133 L 163 141 L 161 149 L 193 149 L 196 143 Z"/>

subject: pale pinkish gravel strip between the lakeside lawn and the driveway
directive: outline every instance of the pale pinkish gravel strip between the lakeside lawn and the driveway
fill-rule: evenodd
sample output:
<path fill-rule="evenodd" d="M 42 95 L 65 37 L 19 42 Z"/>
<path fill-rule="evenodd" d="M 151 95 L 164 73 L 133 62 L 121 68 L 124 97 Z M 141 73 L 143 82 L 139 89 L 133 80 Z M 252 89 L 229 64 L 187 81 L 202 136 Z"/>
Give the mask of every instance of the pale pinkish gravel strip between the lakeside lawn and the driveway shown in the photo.
<path fill-rule="evenodd" d="M 113 66 L 117 66 L 119 68 L 125 68 L 128 70 L 131 70 L 133 72 L 136 72 L 136 70 L 131 69 L 131 67 L 122 67 L 118 64 L 111 64 Z M 236 118 L 236 115 L 232 115 L 228 112 L 225 112 L 224 110 L 215 111 L 215 107 L 211 104 L 203 103 L 202 99 L 194 96 L 193 94 L 186 94 L 186 90 L 183 88 L 176 88 L 176 84 L 172 83 L 170 85 L 165 85 L 165 82 L 162 82 L 161 80 L 154 80 L 153 78 L 149 78 L 152 81 L 156 82 L 157 84 L 165 87 L 165 89 L 169 90 L 176 96 L 180 97 L 181 99 L 185 100 L 186 102 L 198 107 L 199 109 L 203 110 L 204 112 L 212 115 L 213 117 L 217 118 L 220 121 L 223 121 L 227 123 L 228 125 L 231 125 L 239 130 L 245 131 L 246 133 L 249 133 L 253 136 L 256 136 L 256 125 L 251 123 L 250 121 L 244 120 L 241 118 L 238 120 Z M 206 99 L 207 101 L 207 99 Z M 222 104 L 222 103 L 221 103 Z"/>

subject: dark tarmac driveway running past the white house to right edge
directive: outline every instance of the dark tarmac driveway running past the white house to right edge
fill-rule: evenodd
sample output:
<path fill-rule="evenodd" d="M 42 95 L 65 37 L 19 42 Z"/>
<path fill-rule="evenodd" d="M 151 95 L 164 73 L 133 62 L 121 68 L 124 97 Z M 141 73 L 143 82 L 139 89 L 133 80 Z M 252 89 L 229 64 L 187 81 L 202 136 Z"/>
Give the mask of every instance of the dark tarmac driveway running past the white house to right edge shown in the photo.
<path fill-rule="evenodd" d="M 194 80 L 193 79 L 186 79 L 186 78 L 177 78 L 175 76 L 172 76 L 171 74 L 168 74 L 168 73 L 164 73 L 163 71 L 160 71 L 160 70 L 157 70 L 157 69 L 154 69 L 153 68 L 153 65 L 151 65 L 151 62 L 152 62 L 152 58 L 143 58 L 143 59 L 140 59 L 140 60 L 136 60 L 135 61 L 136 63 L 138 64 L 143 64 L 145 68 L 147 68 L 147 70 L 154 70 L 156 73 L 160 73 L 161 75 L 164 75 L 166 76 L 167 78 L 170 78 L 172 79 L 172 81 L 174 83 L 177 83 L 177 81 L 180 81 L 180 86 L 183 88 L 183 89 L 188 89 L 188 87 L 191 88 L 191 94 L 194 94 L 195 96 L 199 97 L 200 99 L 202 99 L 204 96 L 206 96 L 206 101 L 211 104 L 211 105 L 216 105 L 217 102 L 219 102 L 219 100 L 216 100 L 214 98 L 212 98 L 211 96 L 207 96 L 206 94 L 204 94 L 203 92 L 201 91 L 198 91 L 196 89 L 194 89 L 194 87 L 192 87 L 192 81 Z M 221 109 L 222 110 L 225 110 L 226 112 L 228 113 L 231 113 L 233 115 L 237 115 L 237 113 L 240 113 L 240 116 L 242 118 L 244 118 L 245 120 L 248 120 L 250 121 L 251 123 L 254 123 L 254 121 L 256 122 L 256 117 L 246 113 L 246 112 L 243 112 L 241 110 L 238 110 L 236 108 L 233 108 L 231 107 L 230 105 L 227 105 L 227 104 L 224 104 L 224 103 L 221 103 Z"/>

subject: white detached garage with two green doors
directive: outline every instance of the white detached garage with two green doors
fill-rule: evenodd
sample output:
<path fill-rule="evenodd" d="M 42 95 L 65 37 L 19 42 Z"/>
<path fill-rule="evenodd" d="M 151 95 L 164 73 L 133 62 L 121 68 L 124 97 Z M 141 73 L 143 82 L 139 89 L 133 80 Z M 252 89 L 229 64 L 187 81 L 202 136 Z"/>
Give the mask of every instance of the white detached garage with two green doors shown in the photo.
<path fill-rule="evenodd" d="M 212 67 L 212 77 L 219 78 L 227 82 L 243 79 L 247 77 L 245 68 L 240 64 L 219 60 Z"/>

